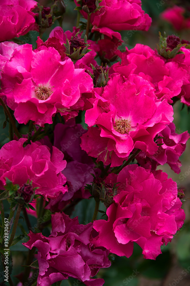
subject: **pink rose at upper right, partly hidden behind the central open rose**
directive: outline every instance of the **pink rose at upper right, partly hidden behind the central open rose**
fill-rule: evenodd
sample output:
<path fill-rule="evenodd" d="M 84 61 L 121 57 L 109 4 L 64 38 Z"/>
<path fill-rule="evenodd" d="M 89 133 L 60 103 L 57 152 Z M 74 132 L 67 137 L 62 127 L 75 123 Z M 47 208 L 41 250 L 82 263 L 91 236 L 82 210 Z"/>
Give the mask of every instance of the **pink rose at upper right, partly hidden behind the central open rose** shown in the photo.
<path fill-rule="evenodd" d="M 110 69 L 111 72 L 119 72 L 127 77 L 129 74 L 138 74 L 148 80 L 159 100 L 179 96 L 182 86 L 189 84 L 189 71 L 185 65 L 181 65 L 174 59 L 166 61 L 160 57 L 157 51 L 142 44 L 136 44 L 133 49 L 122 53 L 117 51 L 121 57 L 121 63 L 115 63 Z M 181 97 L 181 96 L 179 96 Z"/>

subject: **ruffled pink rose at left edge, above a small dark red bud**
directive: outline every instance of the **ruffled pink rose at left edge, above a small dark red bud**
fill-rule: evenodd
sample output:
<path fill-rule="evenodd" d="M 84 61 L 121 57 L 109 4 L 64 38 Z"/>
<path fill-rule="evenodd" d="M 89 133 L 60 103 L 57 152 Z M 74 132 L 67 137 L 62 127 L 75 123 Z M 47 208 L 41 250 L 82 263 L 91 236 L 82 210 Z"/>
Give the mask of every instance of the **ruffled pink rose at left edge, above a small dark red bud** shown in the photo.
<path fill-rule="evenodd" d="M 32 181 L 32 186 L 37 187 L 35 193 L 43 195 L 46 200 L 67 192 L 67 186 L 63 187 L 66 177 L 61 173 L 66 167 L 63 153 L 53 146 L 50 154 L 50 149 L 37 141 L 23 148 L 25 141 L 25 138 L 12 140 L 1 148 L 1 189 L 8 178 L 20 187 L 28 180 Z"/>

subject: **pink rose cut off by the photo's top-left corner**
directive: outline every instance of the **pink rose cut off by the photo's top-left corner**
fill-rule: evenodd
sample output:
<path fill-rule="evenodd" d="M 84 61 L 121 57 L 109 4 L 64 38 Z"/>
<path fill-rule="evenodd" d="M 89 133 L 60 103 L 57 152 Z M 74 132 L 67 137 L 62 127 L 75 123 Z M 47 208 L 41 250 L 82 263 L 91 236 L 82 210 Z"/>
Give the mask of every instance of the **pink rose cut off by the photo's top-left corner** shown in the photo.
<path fill-rule="evenodd" d="M 3 0 L 0 4 L 0 41 L 25 35 L 35 27 L 34 0 Z"/>

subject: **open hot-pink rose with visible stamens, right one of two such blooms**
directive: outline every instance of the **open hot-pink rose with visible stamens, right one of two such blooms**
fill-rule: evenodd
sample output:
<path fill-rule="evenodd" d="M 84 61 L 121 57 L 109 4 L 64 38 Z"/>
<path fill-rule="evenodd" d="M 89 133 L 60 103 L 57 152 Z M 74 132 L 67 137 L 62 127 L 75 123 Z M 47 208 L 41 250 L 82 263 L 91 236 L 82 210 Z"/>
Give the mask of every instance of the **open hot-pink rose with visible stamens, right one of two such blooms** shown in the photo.
<path fill-rule="evenodd" d="M 154 137 L 173 121 L 173 108 L 166 100 L 156 102 L 154 89 L 142 77 L 112 76 L 103 89 L 95 89 L 100 94 L 95 92 L 95 98 L 88 99 L 93 108 L 85 113 L 89 130 L 81 138 L 81 148 L 114 167 L 134 148 L 155 154 Z"/>

